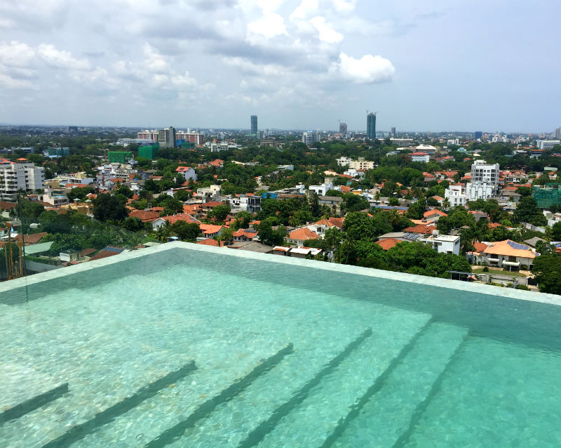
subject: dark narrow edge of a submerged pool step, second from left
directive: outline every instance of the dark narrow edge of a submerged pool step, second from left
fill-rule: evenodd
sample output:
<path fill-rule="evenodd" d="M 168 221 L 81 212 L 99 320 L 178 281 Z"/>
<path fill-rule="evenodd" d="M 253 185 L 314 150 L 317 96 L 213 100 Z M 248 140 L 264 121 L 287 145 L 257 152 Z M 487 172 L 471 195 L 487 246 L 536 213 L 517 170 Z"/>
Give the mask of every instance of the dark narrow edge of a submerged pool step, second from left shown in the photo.
<path fill-rule="evenodd" d="M 171 384 L 180 381 L 185 376 L 191 374 L 196 369 L 195 363 L 193 361 L 184 364 L 180 369 L 170 372 L 169 374 L 159 378 L 158 380 L 147 384 L 137 390 L 133 395 L 126 397 L 124 400 L 110 406 L 103 411 L 95 414 L 92 419 L 80 423 L 79 425 L 72 426 L 66 433 L 60 435 L 54 440 L 51 440 L 47 444 L 43 445 L 43 448 L 66 448 L 72 443 L 83 439 L 86 435 L 93 433 L 100 426 L 106 425 L 107 423 L 114 420 L 117 416 L 125 414 L 138 404 L 142 403 L 150 397 L 154 397 L 160 390 L 167 388 Z"/>

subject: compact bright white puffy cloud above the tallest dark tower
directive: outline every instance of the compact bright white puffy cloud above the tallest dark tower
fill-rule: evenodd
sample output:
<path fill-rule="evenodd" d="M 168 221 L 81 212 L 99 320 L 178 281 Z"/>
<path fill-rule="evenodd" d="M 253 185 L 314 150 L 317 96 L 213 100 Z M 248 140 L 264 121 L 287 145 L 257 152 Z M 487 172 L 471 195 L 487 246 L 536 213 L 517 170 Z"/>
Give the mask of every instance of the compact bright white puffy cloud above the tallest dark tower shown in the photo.
<path fill-rule="evenodd" d="M 379 55 L 363 55 L 360 59 L 341 53 L 339 62 L 334 63 L 332 72 L 339 72 L 344 79 L 356 84 L 373 84 L 391 81 L 396 68 L 391 61 Z"/>

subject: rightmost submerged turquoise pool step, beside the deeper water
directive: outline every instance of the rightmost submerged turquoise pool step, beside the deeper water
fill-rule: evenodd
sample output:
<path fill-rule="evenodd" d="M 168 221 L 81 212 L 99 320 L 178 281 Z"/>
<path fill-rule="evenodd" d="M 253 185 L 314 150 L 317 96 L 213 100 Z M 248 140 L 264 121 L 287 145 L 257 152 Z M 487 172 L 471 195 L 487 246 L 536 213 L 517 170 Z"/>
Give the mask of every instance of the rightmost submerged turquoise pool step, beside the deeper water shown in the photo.
<path fill-rule="evenodd" d="M 367 390 L 322 448 L 401 446 L 419 407 L 467 334 L 464 327 L 442 322 L 427 327 L 396 367 Z"/>

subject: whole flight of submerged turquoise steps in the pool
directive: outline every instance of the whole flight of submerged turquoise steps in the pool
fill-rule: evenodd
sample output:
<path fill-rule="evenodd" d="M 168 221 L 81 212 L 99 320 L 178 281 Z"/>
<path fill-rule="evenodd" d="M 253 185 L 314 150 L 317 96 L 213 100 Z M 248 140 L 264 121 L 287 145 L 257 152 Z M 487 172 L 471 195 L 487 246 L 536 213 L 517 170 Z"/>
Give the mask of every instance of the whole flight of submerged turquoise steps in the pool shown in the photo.
<path fill-rule="evenodd" d="M 212 387 L 212 369 L 187 362 L 124 399 L 83 403 L 88 412 L 72 425 L 56 418 L 76 404 L 72 383 L 51 381 L 49 388 L 43 381 L 38 393 L 0 414 L 0 442 L 37 448 L 400 447 L 468 335 L 430 315 L 407 315 L 414 317 L 397 331 L 381 319 L 342 338 L 327 360 L 325 351 L 299 350 L 297 343 L 262 348 L 262 359 L 248 362 L 245 374 L 222 389 Z M 41 428 L 37 435 L 25 432 L 19 444 L 13 437 L 4 442 L 3 433 L 36 428 L 41 414 L 52 414 L 45 420 L 48 433 Z"/>

